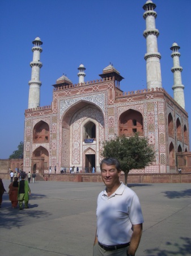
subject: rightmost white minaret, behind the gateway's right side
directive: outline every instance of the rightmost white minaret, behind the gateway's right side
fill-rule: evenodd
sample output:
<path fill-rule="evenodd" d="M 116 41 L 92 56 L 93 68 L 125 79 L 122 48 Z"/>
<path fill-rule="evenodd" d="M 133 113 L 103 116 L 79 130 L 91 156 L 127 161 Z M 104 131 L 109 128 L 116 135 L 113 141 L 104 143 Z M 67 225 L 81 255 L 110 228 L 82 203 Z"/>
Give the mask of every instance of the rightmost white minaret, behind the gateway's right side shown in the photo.
<path fill-rule="evenodd" d="M 171 57 L 173 58 L 173 67 L 171 71 L 174 76 L 174 85 L 172 86 L 173 93 L 174 93 L 174 100 L 183 108 L 185 109 L 185 100 L 184 100 L 184 85 L 182 85 L 182 78 L 181 72 L 182 67 L 180 67 L 180 46 L 177 43 L 173 43 L 171 50 Z"/>

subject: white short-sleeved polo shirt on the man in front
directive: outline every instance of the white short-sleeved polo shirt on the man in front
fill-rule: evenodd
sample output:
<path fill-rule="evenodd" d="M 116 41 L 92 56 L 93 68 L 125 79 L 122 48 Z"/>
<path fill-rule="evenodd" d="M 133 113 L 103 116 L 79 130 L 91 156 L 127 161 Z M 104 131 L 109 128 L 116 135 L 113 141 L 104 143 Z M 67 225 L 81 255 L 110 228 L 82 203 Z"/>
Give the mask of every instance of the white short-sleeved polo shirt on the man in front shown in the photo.
<path fill-rule="evenodd" d="M 138 196 L 121 183 L 108 197 L 106 188 L 97 198 L 97 240 L 104 245 L 130 242 L 132 224 L 144 222 Z"/>

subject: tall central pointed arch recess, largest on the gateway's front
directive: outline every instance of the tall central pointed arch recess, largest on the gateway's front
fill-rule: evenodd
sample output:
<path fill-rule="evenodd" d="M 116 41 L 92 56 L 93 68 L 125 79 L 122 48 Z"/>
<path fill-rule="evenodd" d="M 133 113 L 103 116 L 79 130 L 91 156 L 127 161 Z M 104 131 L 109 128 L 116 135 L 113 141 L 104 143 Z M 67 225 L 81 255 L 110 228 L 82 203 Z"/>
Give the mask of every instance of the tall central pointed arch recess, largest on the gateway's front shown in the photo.
<path fill-rule="evenodd" d="M 85 129 L 87 130 L 85 131 Z M 104 115 L 99 107 L 86 101 L 76 102 L 65 112 L 62 119 L 62 166 L 79 166 L 84 168 L 83 151 L 88 144 L 84 142 L 86 136 L 93 139 L 96 152 L 100 151 L 99 141 L 103 141 Z M 101 133 L 99 131 L 101 130 Z M 101 137 L 100 137 L 101 136 Z M 91 140 L 92 142 L 92 140 Z M 96 163 L 99 165 L 99 154 Z M 96 167 L 96 166 L 94 166 Z"/>

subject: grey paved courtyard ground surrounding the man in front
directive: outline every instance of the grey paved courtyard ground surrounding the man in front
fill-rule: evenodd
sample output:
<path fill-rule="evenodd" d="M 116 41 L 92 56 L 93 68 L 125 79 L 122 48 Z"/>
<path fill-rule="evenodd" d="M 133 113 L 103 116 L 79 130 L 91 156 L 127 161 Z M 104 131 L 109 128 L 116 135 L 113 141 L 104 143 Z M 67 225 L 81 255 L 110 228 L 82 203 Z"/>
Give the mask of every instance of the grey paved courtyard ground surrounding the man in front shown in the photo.
<path fill-rule="evenodd" d="M 8 192 L 10 180 L 3 180 Z M 0 255 L 91 256 L 103 183 L 30 183 L 29 209 L 0 209 Z M 136 256 L 191 255 L 191 184 L 130 184 L 145 223 Z"/>

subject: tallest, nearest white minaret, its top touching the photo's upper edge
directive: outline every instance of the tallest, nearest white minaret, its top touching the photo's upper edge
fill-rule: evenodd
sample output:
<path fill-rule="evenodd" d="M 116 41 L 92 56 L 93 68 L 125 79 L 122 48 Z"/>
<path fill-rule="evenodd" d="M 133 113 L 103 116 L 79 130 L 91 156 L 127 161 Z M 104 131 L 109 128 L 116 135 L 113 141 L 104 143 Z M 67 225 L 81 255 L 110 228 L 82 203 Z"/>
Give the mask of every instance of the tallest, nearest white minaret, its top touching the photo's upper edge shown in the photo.
<path fill-rule="evenodd" d="M 146 30 L 143 36 L 146 38 L 147 53 L 145 54 L 146 71 L 147 71 L 147 89 L 162 87 L 161 69 L 160 69 L 160 53 L 158 52 L 157 38 L 159 31 L 155 27 L 155 18 L 157 16 L 154 11 L 156 5 L 148 0 L 143 9 L 145 13 L 143 18 L 146 20 Z"/>

